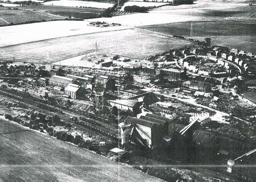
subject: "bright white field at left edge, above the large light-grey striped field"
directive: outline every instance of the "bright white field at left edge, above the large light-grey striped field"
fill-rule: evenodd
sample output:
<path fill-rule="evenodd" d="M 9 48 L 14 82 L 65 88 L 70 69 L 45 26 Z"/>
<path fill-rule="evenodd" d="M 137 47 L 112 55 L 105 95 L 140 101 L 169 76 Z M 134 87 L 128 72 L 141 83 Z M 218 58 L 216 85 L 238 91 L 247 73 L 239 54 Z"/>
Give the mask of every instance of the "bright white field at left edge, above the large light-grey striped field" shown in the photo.
<path fill-rule="evenodd" d="M 62 20 L 0 27 L 0 47 L 64 36 L 106 32 L 128 28 L 124 26 L 95 27 L 88 26 L 88 24 L 89 22 L 85 21 Z"/>

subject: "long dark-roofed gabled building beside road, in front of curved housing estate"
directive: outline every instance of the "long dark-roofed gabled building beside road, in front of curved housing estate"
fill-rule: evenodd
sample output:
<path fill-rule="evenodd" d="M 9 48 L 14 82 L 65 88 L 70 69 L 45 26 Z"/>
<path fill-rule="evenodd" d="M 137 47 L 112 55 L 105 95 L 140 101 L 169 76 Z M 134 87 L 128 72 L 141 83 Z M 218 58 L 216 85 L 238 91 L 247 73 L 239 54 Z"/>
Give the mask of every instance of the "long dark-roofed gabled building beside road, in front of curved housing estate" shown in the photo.
<path fill-rule="evenodd" d="M 183 82 L 182 88 L 187 88 L 189 90 L 195 90 L 200 92 L 210 92 L 211 85 L 208 82 L 192 80 L 191 82 Z"/>

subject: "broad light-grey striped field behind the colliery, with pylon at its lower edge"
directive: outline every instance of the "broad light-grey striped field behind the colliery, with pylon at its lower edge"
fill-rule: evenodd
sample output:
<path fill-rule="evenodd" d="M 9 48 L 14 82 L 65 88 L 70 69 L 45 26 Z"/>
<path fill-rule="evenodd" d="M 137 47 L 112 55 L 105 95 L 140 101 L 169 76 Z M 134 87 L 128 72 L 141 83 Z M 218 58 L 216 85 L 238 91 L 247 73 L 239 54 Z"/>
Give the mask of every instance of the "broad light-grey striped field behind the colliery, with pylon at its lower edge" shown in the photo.
<path fill-rule="evenodd" d="M 16 60 L 28 62 L 54 62 L 91 52 L 96 42 L 99 51 L 135 59 L 144 59 L 192 43 L 127 29 L 7 46 L 1 48 L 1 56 L 3 59 L 15 56 Z"/>

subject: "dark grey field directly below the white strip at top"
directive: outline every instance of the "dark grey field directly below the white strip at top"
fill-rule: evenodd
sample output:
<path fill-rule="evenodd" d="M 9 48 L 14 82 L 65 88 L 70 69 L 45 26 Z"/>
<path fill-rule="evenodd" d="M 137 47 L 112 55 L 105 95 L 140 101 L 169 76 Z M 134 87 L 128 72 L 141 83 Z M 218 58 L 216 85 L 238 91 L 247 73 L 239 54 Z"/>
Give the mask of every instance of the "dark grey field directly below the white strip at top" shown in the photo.
<path fill-rule="evenodd" d="M 65 6 L 51 6 L 51 5 L 38 5 L 38 6 L 23 6 L 22 9 L 26 10 L 41 10 L 46 13 L 51 13 L 60 16 L 72 16 L 74 18 L 89 19 L 97 18 L 102 9 L 85 9 L 76 7 L 65 7 Z"/>

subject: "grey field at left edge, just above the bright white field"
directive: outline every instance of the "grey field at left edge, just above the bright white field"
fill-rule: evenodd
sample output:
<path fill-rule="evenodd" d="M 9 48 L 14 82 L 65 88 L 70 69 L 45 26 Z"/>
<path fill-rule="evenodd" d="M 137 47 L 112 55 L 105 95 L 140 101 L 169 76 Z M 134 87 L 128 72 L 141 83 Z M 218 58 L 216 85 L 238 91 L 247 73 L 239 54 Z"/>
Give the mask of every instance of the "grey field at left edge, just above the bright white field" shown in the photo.
<path fill-rule="evenodd" d="M 51 19 L 64 19 L 64 17 L 57 16 L 54 14 L 45 13 L 42 11 L 30 11 L 30 10 L 9 10 L 1 9 L 0 17 L 3 21 L 0 22 L 0 25 L 8 25 L 11 22 L 21 23 L 30 20 L 51 20 Z M 1 20 L 0 19 L 0 20 Z"/>

